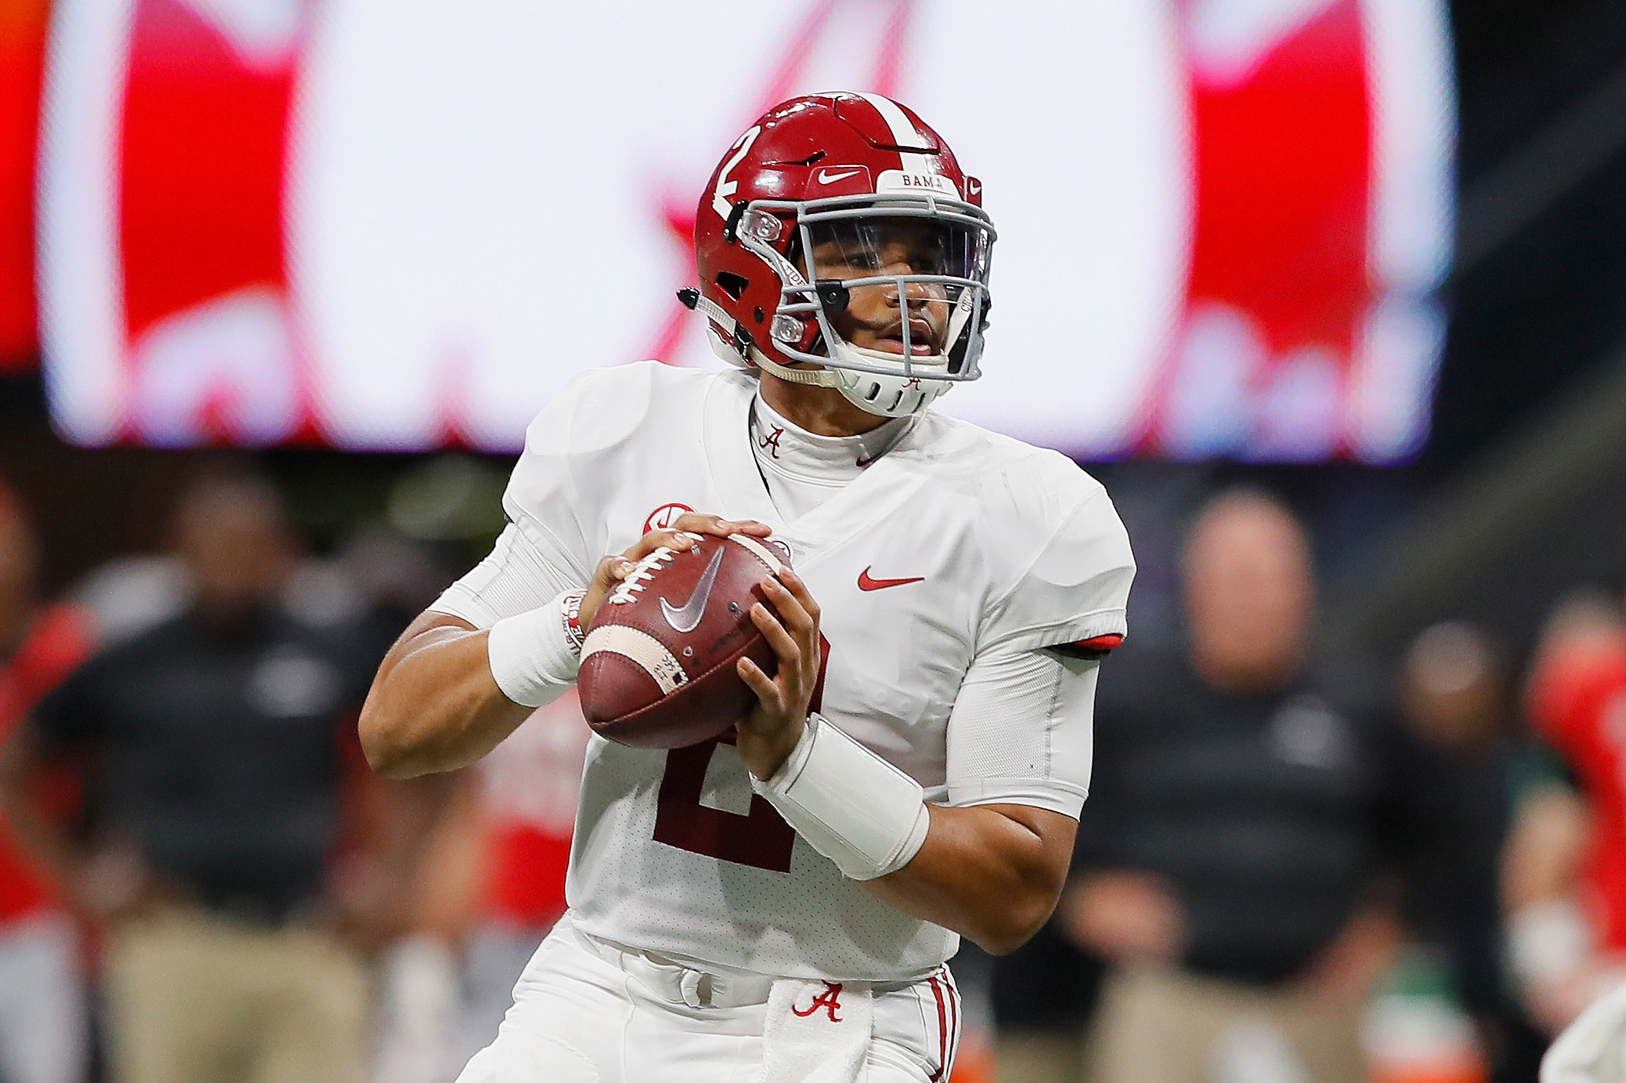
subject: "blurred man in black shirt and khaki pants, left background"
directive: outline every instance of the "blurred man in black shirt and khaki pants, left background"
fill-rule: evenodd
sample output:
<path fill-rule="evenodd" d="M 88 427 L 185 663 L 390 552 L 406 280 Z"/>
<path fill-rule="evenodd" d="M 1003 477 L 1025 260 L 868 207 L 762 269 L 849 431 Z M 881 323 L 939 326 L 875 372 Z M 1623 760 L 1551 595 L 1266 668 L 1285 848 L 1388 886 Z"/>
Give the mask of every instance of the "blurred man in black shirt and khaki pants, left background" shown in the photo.
<path fill-rule="evenodd" d="M 180 499 L 185 608 L 96 654 L 31 711 L 10 813 L 109 927 L 109 1060 L 124 1083 L 364 1075 L 359 948 L 400 920 L 424 787 L 345 837 L 345 750 L 376 659 L 278 605 L 294 540 L 276 493 L 208 476 Z M 44 763 L 89 779 L 83 836 L 16 795 Z"/>

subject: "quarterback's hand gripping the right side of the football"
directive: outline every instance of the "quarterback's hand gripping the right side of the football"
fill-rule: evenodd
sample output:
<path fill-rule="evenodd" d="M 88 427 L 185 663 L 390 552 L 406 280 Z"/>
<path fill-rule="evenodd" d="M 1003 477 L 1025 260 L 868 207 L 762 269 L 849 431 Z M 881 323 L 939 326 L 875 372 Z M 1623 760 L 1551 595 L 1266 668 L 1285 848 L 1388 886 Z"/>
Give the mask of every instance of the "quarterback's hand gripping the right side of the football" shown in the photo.
<path fill-rule="evenodd" d="M 779 613 L 776 616 L 758 602 L 751 607 L 751 620 L 779 655 L 779 672 L 767 676 L 750 659 L 735 663 L 740 680 L 756 693 L 751 714 L 735 725 L 735 745 L 751 774 L 767 779 L 802 738 L 818 686 L 820 642 L 818 602 L 800 576 L 789 568 L 777 579 L 767 576 L 763 594 Z"/>

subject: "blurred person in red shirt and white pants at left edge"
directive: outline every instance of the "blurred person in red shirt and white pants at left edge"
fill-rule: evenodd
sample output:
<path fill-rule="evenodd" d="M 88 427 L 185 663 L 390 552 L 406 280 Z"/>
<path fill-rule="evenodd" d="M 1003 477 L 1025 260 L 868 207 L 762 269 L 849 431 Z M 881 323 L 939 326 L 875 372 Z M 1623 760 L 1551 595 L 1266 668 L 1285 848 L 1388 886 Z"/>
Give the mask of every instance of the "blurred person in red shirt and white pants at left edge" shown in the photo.
<path fill-rule="evenodd" d="M 67 605 L 37 597 L 37 553 L 23 509 L 0 486 L 0 742 L 89 654 L 91 629 Z M 60 820 L 70 779 L 8 794 Z M 80 1083 L 89 1034 L 73 919 L 46 867 L 0 816 L 0 1083 Z"/>

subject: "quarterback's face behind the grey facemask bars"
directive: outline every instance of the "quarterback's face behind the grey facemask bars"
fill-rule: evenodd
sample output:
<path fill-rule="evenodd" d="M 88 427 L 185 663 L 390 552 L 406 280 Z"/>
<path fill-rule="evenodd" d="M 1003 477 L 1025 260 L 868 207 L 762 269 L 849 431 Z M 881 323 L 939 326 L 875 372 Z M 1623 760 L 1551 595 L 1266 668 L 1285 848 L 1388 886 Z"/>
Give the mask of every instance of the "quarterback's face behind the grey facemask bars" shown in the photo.
<path fill-rule="evenodd" d="M 815 278 L 872 278 L 880 275 L 943 275 L 948 244 L 941 231 L 919 218 L 842 223 L 813 244 Z M 911 281 L 899 298 L 898 283 L 857 286 L 847 307 L 831 314 L 836 332 L 860 350 L 904 353 L 909 324 L 911 356 L 943 353 L 950 298 L 940 283 Z"/>

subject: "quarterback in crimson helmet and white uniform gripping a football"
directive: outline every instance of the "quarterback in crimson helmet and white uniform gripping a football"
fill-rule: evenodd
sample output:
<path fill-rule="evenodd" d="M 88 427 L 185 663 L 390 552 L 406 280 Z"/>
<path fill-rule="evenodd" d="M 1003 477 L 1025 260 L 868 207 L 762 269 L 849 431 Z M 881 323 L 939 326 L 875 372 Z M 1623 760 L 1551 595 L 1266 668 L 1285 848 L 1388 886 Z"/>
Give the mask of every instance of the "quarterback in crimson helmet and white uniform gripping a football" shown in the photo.
<path fill-rule="evenodd" d="M 930 410 L 979 374 L 993 237 L 909 109 L 787 101 L 712 174 L 680 294 L 733 368 L 587 371 L 530 424 L 496 548 L 379 670 L 377 771 L 467 766 L 563 694 L 659 546 L 795 571 L 733 733 L 593 738 L 569 912 L 463 1083 L 946 1080 L 959 937 L 1049 919 L 1135 566 L 1072 462 Z"/>

